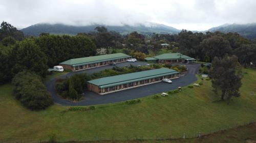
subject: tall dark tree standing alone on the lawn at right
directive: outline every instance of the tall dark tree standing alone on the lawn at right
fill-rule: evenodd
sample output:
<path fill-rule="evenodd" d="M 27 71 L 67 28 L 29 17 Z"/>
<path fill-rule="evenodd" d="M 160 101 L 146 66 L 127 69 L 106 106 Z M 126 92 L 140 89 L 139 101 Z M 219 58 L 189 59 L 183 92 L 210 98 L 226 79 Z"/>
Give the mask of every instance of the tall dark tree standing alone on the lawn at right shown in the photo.
<path fill-rule="evenodd" d="M 211 85 L 214 92 L 221 91 L 221 100 L 225 97 L 230 101 L 231 97 L 239 97 L 239 89 L 242 85 L 242 69 L 237 56 L 215 57 L 209 70 Z"/>

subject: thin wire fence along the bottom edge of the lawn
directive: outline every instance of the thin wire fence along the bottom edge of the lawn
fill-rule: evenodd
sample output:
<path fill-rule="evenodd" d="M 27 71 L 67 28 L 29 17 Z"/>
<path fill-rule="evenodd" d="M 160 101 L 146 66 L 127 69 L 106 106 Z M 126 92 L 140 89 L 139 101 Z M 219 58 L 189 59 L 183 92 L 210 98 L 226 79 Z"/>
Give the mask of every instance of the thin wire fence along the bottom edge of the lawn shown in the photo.
<path fill-rule="evenodd" d="M 139 136 L 139 135 L 130 135 L 130 136 L 115 136 L 114 134 L 109 135 L 109 137 L 101 137 L 101 135 L 96 135 L 96 136 L 82 136 L 82 137 L 78 137 L 78 138 L 60 138 L 60 137 L 56 137 L 54 138 L 54 140 L 56 142 L 83 142 L 83 141 L 105 141 L 105 140 L 122 140 L 122 141 L 131 141 L 131 140 L 168 140 L 168 139 L 178 139 L 178 138 L 200 138 L 204 135 L 208 135 L 208 134 L 212 134 L 212 133 L 216 133 L 219 131 L 224 131 L 227 129 L 232 129 L 232 128 L 236 128 L 236 127 L 241 127 L 241 126 L 245 126 L 248 124 L 252 124 L 255 123 L 256 120 L 253 120 L 250 123 L 244 123 L 244 124 L 237 124 L 234 123 L 232 126 L 222 126 L 221 128 L 216 128 L 213 130 L 209 130 L 206 132 L 194 132 L 194 133 L 187 133 L 184 132 L 182 134 L 170 134 L 170 135 L 154 135 L 154 136 Z M 105 135 L 102 135 L 105 136 Z M 40 139 L 40 138 L 32 138 L 32 137 L 10 137 L 10 138 L 0 138 L 0 143 L 30 143 L 30 142 L 48 142 L 49 138 L 44 138 L 44 139 Z"/>

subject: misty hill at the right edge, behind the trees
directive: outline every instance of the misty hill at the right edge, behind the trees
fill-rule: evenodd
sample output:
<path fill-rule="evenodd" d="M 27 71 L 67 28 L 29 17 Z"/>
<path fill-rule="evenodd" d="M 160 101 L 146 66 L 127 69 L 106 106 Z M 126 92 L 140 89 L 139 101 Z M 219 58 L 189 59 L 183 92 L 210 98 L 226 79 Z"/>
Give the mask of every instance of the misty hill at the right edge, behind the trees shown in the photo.
<path fill-rule="evenodd" d="M 250 24 L 224 24 L 218 27 L 212 27 L 208 30 L 209 32 L 237 32 L 241 36 L 246 37 L 248 39 L 256 38 L 256 23 Z"/>

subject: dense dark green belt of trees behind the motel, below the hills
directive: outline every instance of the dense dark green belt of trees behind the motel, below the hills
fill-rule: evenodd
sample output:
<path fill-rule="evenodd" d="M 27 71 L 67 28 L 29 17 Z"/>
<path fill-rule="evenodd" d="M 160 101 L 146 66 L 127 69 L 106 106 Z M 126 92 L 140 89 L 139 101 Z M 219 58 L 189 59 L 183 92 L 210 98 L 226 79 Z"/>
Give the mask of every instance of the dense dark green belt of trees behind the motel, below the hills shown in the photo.
<path fill-rule="evenodd" d="M 243 66 L 255 66 L 256 63 L 256 40 L 249 40 L 238 33 L 193 33 L 182 30 L 176 35 L 143 35 L 138 32 L 121 35 L 108 31 L 104 26 L 97 26 L 95 32 L 78 33 L 75 36 L 41 33 L 39 37 L 25 37 L 23 32 L 3 21 L 0 41 L 0 84 L 10 82 L 15 77 L 12 82 L 16 85 L 16 98 L 30 109 L 44 109 L 52 104 L 44 85 L 40 84 L 40 78 L 48 74 L 48 68 L 69 59 L 121 50 L 143 61 L 147 56 L 166 50 L 181 52 L 201 62 L 212 62 L 216 57 L 221 59 L 236 55 L 234 59 L 238 59 Z M 169 46 L 162 46 L 163 43 Z M 30 78 L 26 80 L 23 77 Z M 217 78 L 215 80 L 221 81 Z M 19 84 L 19 81 L 23 84 Z M 34 83 L 38 86 L 26 87 Z M 31 89 L 46 94 L 33 96 Z M 40 107 L 34 106 L 37 103 Z"/>

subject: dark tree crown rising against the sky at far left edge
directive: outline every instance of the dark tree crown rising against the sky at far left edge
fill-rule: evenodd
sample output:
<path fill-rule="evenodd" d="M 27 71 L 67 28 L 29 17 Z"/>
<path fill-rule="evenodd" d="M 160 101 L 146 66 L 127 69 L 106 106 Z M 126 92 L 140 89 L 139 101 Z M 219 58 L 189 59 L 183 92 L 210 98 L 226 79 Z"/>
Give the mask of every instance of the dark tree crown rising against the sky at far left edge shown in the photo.
<path fill-rule="evenodd" d="M 24 34 L 22 31 L 17 30 L 17 28 L 12 26 L 10 23 L 3 21 L 0 28 L 0 41 L 8 36 L 11 36 L 16 40 L 24 39 Z"/>

